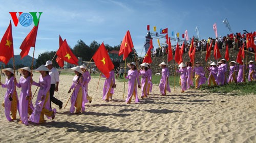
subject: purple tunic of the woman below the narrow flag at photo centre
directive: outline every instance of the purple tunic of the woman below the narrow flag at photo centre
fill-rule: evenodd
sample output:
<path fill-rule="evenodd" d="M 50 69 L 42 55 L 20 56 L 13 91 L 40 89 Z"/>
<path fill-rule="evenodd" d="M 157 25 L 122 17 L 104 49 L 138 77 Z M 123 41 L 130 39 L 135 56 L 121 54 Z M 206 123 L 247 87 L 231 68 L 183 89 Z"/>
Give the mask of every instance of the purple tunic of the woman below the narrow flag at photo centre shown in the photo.
<path fill-rule="evenodd" d="M 140 85 L 140 78 L 139 73 L 137 70 L 129 70 L 128 74 L 126 76 L 126 79 L 129 79 L 128 81 L 128 95 L 126 98 L 126 103 L 129 102 L 130 98 L 133 97 L 133 92 L 135 91 L 135 102 L 139 102 L 138 93 L 137 93 L 137 87 L 135 87 L 135 82 L 137 79 L 138 85 Z"/>

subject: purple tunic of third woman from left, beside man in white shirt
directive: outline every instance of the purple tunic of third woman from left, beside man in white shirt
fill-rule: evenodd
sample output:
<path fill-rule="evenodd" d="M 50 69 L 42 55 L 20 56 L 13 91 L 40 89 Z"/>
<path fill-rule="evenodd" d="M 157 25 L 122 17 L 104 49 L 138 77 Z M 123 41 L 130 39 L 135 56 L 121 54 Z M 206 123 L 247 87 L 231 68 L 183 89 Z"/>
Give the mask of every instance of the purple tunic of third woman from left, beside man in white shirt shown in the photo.
<path fill-rule="evenodd" d="M 42 75 L 40 75 L 39 83 L 36 83 L 35 81 L 33 81 L 33 85 L 40 87 L 40 89 L 37 94 L 34 110 L 32 112 L 32 115 L 30 116 L 30 121 L 38 124 L 40 121 L 41 111 L 42 111 L 42 108 L 44 107 L 44 103 L 45 103 L 45 100 L 47 97 L 46 95 L 51 88 L 51 76 L 47 75 L 45 77 L 42 77 Z M 41 100 L 43 95 L 45 96 L 45 99 Z M 51 107 L 50 107 L 50 95 L 48 96 L 48 99 L 45 103 L 45 109 L 47 109 L 49 111 L 53 110 L 54 114 L 56 113 L 56 109 L 55 108 L 51 109 Z M 47 116 L 47 118 L 51 119 L 52 117 Z"/>

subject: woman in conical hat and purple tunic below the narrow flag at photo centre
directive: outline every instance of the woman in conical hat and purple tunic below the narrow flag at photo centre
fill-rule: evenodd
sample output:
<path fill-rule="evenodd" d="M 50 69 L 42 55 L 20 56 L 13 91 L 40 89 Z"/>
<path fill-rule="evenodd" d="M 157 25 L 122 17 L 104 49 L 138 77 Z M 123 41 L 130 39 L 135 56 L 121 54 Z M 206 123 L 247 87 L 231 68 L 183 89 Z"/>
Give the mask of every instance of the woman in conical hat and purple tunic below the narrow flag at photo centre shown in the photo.
<path fill-rule="evenodd" d="M 127 104 L 131 104 L 133 96 L 135 98 L 135 102 L 139 102 L 138 93 L 137 93 L 137 82 L 138 82 L 138 88 L 140 89 L 140 77 L 136 69 L 136 64 L 134 62 L 127 64 L 127 66 L 130 68 L 130 70 L 128 71 L 128 74 L 125 77 L 126 79 L 128 79 L 128 94 L 125 102 Z"/>

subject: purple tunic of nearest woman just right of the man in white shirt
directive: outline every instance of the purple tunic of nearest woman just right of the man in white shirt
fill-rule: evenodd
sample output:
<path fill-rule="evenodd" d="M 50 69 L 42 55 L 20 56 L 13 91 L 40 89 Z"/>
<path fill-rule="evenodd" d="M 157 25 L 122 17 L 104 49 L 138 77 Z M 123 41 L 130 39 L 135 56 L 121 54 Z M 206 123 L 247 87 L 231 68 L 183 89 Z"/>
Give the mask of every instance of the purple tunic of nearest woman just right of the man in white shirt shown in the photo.
<path fill-rule="evenodd" d="M 82 88 L 81 89 L 82 90 L 82 99 L 81 99 L 82 100 L 82 107 L 81 107 L 81 111 L 85 111 L 86 110 L 85 104 L 88 102 L 87 98 L 86 98 L 86 90 L 85 90 L 85 88 L 83 86 L 83 84 L 84 84 L 83 81 L 80 80 L 79 83 L 76 85 L 78 77 L 79 76 L 77 76 L 77 75 L 74 76 L 74 78 L 72 80 L 73 83 L 72 83 L 72 85 L 70 87 L 71 90 L 75 88 L 73 94 L 71 95 L 71 99 L 70 99 L 70 102 L 71 102 L 70 112 L 71 113 L 75 111 L 76 98 L 77 98 L 77 95 L 79 93 L 80 88 Z"/>

